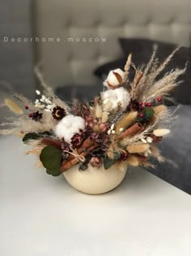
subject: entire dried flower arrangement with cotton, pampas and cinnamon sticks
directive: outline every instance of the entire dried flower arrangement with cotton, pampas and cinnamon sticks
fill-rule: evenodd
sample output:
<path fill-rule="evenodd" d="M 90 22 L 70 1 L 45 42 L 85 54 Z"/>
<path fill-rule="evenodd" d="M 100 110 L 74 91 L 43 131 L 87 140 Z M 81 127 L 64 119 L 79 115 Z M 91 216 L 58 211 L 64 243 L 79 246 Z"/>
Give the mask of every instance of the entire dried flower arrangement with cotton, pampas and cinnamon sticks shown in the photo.
<path fill-rule="evenodd" d="M 127 165 L 153 167 L 151 157 L 163 161 L 156 144 L 170 132 L 173 119 L 163 99 L 179 84 L 176 79 L 186 69 L 176 68 L 159 78 L 175 52 L 162 64 L 154 52 L 144 69 L 134 66 L 130 54 L 124 71 L 109 72 L 100 96 L 71 106 L 57 98 L 37 72 L 44 92 L 36 90 L 35 103 L 18 94 L 17 103 L 6 100 L 7 106 L 22 115 L 0 133 L 19 133 L 32 147 L 28 154 L 39 156 L 52 176 L 77 164 L 83 171 L 88 165 L 104 165 L 107 170 L 114 163 L 121 170 Z M 135 71 L 133 79 L 129 78 L 130 68 Z"/>

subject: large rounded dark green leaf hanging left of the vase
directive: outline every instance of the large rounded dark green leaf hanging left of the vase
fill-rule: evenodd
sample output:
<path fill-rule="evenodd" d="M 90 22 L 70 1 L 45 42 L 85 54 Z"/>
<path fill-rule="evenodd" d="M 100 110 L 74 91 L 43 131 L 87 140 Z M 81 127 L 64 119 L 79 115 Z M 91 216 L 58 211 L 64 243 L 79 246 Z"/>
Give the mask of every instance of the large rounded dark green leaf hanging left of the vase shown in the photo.
<path fill-rule="evenodd" d="M 47 173 L 52 176 L 61 174 L 60 167 L 62 163 L 62 151 L 53 145 L 47 145 L 40 153 L 40 161 L 47 169 Z"/>

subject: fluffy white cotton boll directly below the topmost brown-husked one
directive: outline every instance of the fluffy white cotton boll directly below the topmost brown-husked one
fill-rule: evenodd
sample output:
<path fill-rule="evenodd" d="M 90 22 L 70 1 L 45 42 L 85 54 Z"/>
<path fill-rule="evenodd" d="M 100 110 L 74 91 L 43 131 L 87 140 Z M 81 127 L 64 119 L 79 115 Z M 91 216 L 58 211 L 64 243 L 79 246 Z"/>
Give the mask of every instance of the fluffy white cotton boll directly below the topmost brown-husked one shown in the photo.
<path fill-rule="evenodd" d="M 102 93 L 101 97 L 104 105 L 104 111 L 112 111 L 120 102 L 122 110 L 125 110 L 130 102 L 129 93 L 123 87 L 117 89 L 108 89 Z"/>

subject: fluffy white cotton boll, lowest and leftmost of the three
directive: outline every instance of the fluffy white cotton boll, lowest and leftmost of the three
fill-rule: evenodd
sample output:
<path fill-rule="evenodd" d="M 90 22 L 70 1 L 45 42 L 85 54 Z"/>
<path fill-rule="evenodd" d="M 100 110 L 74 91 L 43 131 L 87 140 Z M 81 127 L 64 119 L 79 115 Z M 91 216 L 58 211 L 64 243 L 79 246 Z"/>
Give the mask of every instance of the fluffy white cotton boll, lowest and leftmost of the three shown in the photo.
<path fill-rule="evenodd" d="M 79 130 L 84 130 L 85 120 L 80 116 L 66 115 L 56 126 L 55 133 L 58 138 L 70 143 L 74 133 L 79 133 Z"/>

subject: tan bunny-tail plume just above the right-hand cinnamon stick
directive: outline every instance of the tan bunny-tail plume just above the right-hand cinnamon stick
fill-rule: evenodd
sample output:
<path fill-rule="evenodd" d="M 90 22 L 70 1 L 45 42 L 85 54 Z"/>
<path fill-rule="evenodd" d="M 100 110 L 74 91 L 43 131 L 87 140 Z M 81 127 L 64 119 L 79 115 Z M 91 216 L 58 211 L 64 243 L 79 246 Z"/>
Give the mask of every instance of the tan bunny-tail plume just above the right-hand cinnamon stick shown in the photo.
<path fill-rule="evenodd" d="M 124 115 L 116 124 L 115 131 L 119 132 L 120 130 L 125 130 L 125 128 L 128 128 L 130 124 L 134 122 L 136 117 L 138 116 L 137 111 L 131 111 L 128 114 Z"/>

